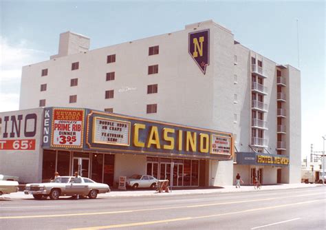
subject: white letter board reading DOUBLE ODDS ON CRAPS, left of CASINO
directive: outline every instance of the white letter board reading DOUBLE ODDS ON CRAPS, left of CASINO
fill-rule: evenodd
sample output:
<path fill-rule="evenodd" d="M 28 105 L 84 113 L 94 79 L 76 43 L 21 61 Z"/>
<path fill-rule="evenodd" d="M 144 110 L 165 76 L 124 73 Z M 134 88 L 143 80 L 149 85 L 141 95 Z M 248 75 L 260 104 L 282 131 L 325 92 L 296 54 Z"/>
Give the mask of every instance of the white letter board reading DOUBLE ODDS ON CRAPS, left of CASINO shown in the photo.
<path fill-rule="evenodd" d="M 130 122 L 94 118 L 92 142 L 109 145 L 129 145 Z"/>

